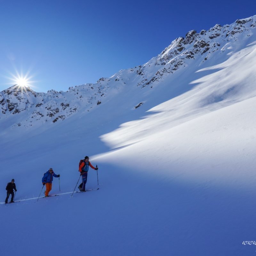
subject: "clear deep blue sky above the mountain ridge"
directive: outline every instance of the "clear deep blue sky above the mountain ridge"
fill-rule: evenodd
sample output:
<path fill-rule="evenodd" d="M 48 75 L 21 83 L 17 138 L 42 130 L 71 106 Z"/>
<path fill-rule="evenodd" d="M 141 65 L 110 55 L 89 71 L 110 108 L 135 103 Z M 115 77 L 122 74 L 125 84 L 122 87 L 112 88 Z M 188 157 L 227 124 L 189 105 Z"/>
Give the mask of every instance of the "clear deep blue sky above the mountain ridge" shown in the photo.
<path fill-rule="evenodd" d="M 0 0 L 0 91 L 29 72 L 36 92 L 142 65 L 189 30 L 256 14 L 256 1 Z"/>

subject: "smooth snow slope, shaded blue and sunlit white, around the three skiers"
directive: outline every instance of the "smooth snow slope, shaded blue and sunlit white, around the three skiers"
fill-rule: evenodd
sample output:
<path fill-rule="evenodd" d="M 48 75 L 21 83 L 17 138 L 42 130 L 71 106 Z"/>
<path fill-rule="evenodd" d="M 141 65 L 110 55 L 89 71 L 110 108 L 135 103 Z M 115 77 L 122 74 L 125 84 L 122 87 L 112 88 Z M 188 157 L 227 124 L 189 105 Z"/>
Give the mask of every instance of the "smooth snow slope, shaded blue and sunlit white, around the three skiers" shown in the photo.
<path fill-rule="evenodd" d="M 139 108 L 124 86 L 88 113 L 2 130 L 1 202 L 12 178 L 23 201 L 0 204 L 0 254 L 255 255 L 255 32 L 228 47 L 143 91 Z M 86 155 L 99 167 L 86 188 L 100 189 L 71 197 Z M 61 195 L 24 200 L 50 167 Z"/>

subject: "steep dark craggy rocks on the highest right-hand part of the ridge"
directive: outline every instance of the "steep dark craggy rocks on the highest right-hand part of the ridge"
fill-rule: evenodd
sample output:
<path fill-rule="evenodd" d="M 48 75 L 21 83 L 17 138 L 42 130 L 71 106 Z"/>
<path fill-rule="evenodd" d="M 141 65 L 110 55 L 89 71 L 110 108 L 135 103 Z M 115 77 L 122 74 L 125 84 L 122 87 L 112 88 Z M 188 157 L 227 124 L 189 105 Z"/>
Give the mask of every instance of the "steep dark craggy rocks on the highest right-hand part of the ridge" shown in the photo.
<path fill-rule="evenodd" d="M 185 38 L 179 37 L 164 49 L 155 59 L 153 58 L 150 65 L 161 66 L 156 68 L 154 75 L 147 75 L 147 65 L 139 66 L 137 75 L 142 76 L 137 86 L 145 88 L 153 87 L 157 82 L 162 81 L 165 76 L 173 74 L 178 70 L 190 65 L 193 60 L 200 60 L 203 63 L 211 59 L 212 54 L 225 51 L 225 45 L 228 42 L 235 42 L 238 36 L 250 36 L 252 29 L 256 26 L 256 16 L 249 19 L 236 20 L 231 25 L 221 26 L 216 24 L 207 30 L 189 31 Z M 224 48 L 223 48 L 224 47 Z"/>

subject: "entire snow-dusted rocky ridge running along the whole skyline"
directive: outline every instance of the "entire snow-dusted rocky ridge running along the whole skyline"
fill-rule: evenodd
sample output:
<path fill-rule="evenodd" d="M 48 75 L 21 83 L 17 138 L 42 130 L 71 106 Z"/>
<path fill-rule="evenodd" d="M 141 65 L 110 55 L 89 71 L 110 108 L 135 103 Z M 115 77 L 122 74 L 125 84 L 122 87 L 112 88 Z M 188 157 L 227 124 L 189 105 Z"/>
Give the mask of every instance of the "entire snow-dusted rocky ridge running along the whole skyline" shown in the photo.
<path fill-rule="evenodd" d="M 199 67 L 219 54 L 232 54 L 237 46 L 246 45 L 246 38 L 255 33 L 255 27 L 256 16 L 252 16 L 236 20 L 231 25 L 217 24 L 200 33 L 189 31 L 146 64 L 121 70 L 110 78 L 100 78 L 96 84 L 70 87 L 67 92 L 51 90 L 38 93 L 29 87 L 14 85 L 0 92 L 0 121 L 17 116 L 12 118 L 13 126 L 55 123 L 78 111 L 86 112 L 99 106 L 108 98 L 110 91 L 113 93 L 113 89 L 118 91 L 123 86 L 134 86 L 135 89 L 150 90 L 178 70 L 182 72 L 190 65 Z"/>

